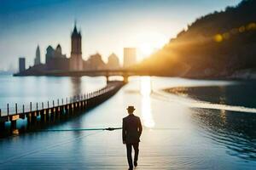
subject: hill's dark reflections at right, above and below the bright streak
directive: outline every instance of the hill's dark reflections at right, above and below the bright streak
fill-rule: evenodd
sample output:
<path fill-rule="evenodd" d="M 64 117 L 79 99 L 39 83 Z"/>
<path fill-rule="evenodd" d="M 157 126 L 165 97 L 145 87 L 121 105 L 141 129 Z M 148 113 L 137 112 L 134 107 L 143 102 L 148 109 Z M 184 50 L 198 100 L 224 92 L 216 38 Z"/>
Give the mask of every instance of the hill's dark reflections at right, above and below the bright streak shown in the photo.
<path fill-rule="evenodd" d="M 254 100 L 247 102 L 251 96 L 246 95 L 255 93 L 253 86 L 256 87 L 250 82 L 226 87 L 172 88 L 169 91 L 201 100 L 194 100 L 196 107 L 193 100 L 188 105 L 196 108 L 192 110 L 191 116 L 203 136 L 212 139 L 216 144 L 224 145 L 230 156 L 256 161 L 256 105 L 253 105 Z M 214 110 L 208 110 L 207 107 Z"/>

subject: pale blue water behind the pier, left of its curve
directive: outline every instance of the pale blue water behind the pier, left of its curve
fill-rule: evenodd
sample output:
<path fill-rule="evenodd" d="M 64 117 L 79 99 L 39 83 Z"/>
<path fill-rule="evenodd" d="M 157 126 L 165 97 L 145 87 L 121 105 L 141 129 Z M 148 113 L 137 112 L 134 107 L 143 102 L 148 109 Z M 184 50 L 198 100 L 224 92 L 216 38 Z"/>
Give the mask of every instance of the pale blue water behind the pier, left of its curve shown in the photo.
<path fill-rule="evenodd" d="M 25 109 L 32 109 L 44 105 L 52 105 L 52 101 L 73 97 L 78 94 L 89 93 L 93 90 L 102 88 L 106 85 L 104 77 L 11 77 L 0 76 L 0 108 L 3 114 L 9 111 L 15 113 L 15 103 L 18 104 L 18 112 L 22 111 L 22 105 Z"/>

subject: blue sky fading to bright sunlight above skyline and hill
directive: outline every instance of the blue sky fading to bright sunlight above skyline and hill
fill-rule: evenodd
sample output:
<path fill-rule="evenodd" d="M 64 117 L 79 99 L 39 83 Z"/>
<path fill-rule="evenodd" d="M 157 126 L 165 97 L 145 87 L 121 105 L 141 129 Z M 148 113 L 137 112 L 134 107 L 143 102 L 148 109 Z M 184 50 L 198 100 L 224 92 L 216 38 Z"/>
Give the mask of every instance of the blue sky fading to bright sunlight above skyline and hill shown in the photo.
<path fill-rule="evenodd" d="M 18 58 L 33 65 L 39 45 L 61 44 L 70 56 L 74 21 L 82 33 L 83 59 L 137 48 L 137 60 L 162 47 L 195 19 L 241 0 L 0 0 L 0 70 L 17 69 Z"/>

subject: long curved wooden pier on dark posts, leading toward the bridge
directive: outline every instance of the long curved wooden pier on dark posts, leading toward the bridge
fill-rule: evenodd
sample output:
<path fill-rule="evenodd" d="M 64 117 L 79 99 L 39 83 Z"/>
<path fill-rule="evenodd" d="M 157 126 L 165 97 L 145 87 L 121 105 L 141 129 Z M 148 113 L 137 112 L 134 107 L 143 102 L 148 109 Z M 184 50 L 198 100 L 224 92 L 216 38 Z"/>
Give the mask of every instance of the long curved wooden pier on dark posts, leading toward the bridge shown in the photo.
<path fill-rule="evenodd" d="M 32 109 L 32 103 L 30 103 L 28 111 L 22 105 L 22 110 L 19 112 L 17 104 L 15 104 L 15 111 L 11 112 L 9 111 L 9 105 L 7 105 L 5 114 L 0 110 L 0 133 L 7 130 L 7 122 L 10 122 L 9 130 L 11 132 L 16 130 L 17 120 L 19 119 L 26 120 L 26 126 L 31 127 L 36 126 L 38 122 L 55 123 L 61 119 L 68 119 L 69 116 L 72 117 L 74 114 L 84 113 L 84 111 L 88 111 L 112 97 L 124 84 L 125 82 L 119 81 L 108 82 L 106 87 L 89 94 L 81 94 L 69 99 L 58 99 L 56 103 L 53 100 L 51 105 L 48 101 L 47 105 L 41 103 L 40 108 L 39 103 L 36 103 L 36 107 Z"/>

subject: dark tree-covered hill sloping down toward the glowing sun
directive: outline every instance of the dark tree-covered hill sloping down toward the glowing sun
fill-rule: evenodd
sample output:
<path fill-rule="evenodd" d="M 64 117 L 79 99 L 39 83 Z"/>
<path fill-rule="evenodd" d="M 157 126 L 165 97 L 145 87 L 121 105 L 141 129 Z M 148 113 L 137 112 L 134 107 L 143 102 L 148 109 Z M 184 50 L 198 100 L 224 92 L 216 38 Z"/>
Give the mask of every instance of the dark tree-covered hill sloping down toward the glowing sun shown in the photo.
<path fill-rule="evenodd" d="M 158 76 L 229 77 L 256 68 L 256 1 L 207 14 L 135 66 Z"/>

